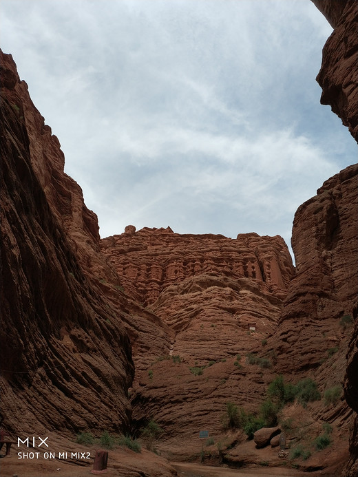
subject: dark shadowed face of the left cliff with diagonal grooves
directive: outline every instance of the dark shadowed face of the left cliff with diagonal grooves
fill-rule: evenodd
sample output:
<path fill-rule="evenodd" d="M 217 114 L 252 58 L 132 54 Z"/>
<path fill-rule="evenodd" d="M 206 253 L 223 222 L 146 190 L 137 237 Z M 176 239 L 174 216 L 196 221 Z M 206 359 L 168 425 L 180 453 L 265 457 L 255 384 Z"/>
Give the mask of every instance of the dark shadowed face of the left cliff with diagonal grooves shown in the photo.
<path fill-rule="evenodd" d="M 52 172 L 34 167 L 26 119 L 32 106 L 10 55 L 1 54 L 1 82 L 3 426 L 13 435 L 125 431 L 134 374 L 129 339 L 87 278 L 44 192 Z M 59 148 L 49 129 L 39 127 L 45 145 Z"/>

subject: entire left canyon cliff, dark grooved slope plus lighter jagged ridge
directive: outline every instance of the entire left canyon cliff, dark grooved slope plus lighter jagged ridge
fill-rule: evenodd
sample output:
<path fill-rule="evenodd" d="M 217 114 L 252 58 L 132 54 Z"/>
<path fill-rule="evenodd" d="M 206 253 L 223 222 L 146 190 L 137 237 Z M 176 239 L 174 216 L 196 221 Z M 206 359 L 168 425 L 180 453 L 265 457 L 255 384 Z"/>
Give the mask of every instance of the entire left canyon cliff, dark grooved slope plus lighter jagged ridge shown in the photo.
<path fill-rule="evenodd" d="M 169 352 L 171 330 L 123 293 L 99 251 L 96 215 L 63 171 L 59 140 L 11 55 L 0 54 L 0 421 L 12 436 L 46 433 L 62 450 L 76 432 L 129 431 L 130 340 L 140 368 Z M 138 466 L 132 454 L 128 469 L 173 471 Z"/>

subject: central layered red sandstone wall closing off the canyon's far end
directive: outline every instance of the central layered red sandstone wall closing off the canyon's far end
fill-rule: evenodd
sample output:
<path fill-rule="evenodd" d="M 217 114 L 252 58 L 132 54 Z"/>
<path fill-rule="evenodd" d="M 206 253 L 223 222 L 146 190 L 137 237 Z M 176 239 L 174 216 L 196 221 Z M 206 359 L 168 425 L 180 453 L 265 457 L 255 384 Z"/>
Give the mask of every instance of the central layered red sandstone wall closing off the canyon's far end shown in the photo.
<path fill-rule="evenodd" d="M 288 248 L 277 236 L 229 239 L 133 226 L 101 247 L 128 295 L 174 332 L 169 353 L 136 373 L 134 420 L 140 427 L 154 418 L 165 428 L 159 448 L 166 456 L 193 456 L 198 430 L 223 432 L 225 403 L 255 411 L 273 379 L 270 358 L 263 368 L 246 354 L 262 350 L 277 326 L 294 274 Z"/>

